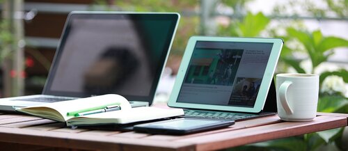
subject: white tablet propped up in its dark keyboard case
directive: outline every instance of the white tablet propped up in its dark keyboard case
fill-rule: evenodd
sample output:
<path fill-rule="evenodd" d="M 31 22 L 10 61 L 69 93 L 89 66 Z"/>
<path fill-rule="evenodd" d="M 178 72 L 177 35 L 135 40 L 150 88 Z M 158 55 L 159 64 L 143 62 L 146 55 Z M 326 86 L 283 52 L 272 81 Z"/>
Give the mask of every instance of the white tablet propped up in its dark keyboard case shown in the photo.
<path fill-rule="evenodd" d="M 184 109 L 190 118 L 274 115 L 272 81 L 282 47 L 278 38 L 191 37 L 168 106 Z M 268 93 L 272 106 L 265 111 Z"/>

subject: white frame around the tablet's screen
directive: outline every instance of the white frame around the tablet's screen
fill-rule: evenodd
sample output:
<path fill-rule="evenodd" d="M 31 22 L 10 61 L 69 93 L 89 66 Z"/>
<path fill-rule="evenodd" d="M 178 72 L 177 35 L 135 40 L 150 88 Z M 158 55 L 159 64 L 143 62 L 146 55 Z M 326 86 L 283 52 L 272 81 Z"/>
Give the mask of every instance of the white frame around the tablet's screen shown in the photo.
<path fill-rule="evenodd" d="M 256 97 L 255 104 L 253 107 L 245 106 L 222 106 L 222 105 L 212 105 L 212 104 L 193 104 L 177 102 L 177 97 L 180 95 L 180 90 L 182 84 L 184 84 L 184 77 L 189 69 L 189 63 L 193 51 L 198 41 L 208 41 L 208 42 L 264 42 L 272 43 L 273 47 L 271 49 L 271 54 L 269 55 L 269 61 L 267 62 L 267 67 L 264 72 L 262 83 L 260 85 L 260 90 L 258 96 Z M 184 51 L 184 56 L 182 57 L 182 63 L 177 72 L 177 77 L 175 79 L 175 84 L 171 96 L 168 100 L 168 106 L 178 107 L 184 109 L 207 109 L 216 111 L 238 111 L 246 113 L 259 113 L 262 111 L 264 104 L 267 99 L 267 93 L 269 92 L 269 87 L 273 79 L 274 71 L 276 70 L 276 65 L 278 63 L 278 58 L 280 56 L 281 48 L 283 47 L 283 40 L 280 38 L 228 38 L 228 37 L 210 37 L 210 36 L 193 36 L 189 39 L 187 47 Z"/>

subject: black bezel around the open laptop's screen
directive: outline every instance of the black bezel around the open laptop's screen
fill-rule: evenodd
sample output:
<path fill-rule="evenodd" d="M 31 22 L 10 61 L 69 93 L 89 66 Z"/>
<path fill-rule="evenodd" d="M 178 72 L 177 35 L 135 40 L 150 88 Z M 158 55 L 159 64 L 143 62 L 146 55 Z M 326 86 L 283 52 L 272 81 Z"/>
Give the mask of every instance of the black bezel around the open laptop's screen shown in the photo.
<path fill-rule="evenodd" d="M 140 102 L 148 102 L 149 105 L 152 104 L 153 99 L 155 97 L 155 92 L 157 89 L 157 86 L 159 84 L 159 79 L 161 77 L 161 74 L 164 70 L 164 65 L 166 65 L 166 61 L 168 60 L 168 55 L 171 50 L 171 46 L 173 44 L 173 39 L 175 38 L 175 33 L 177 31 L 177 26 L 179 24 L 180 20 L 180 14 L 179 13 L 156 13 L 156 12 L 112 12 L 112 11 L 72 11 L 69 13 L 67 20 L 65 22 L 63 33 L 61 35 L 60 43 L 56 49 L 56 54 L 54 56 L 54 60 L 52 61 L 52 67 L 49 70 L 49 75 L 47 77 L 47 81 L 45 83 L 44 89 L 42 90 L 42 95 L 57 95 L 57 96 L 66 96 L 66 97 L 90 97 L 94 96 L 93 94 L 86 95 L 84 93 L 70 93 L 70 92 L 63 92 L 63 91 L 56 91 L 51 90 L 50 87 L 52 86 L 52 81 L 54 78 L 54 75 L 56 74 L 58 62 L 60 55 L 62 54 L 62 49 L 65 45 L 65 40 L 68 36 L 68 28 L 69 25 L 72 22 L 72 19 L 74 17 L 84 16 L 84 15 L 100 15 L 101 17 L 104 15 L 148 15 L 150 16 L 161 16 L 161 18 L 171 19 L 173 20 L 173 26 L 171 26 L 169 29 L 170 31 L 173 29 L 173 34 L 171 35 L 171 38 L 166 41 L 166 45 L 168 45 L 168 50 L 164 52 L 164 54 L 161 54 L 160 57 L 160 63 L 163 63 L 159 66 L 159 71 L 157 71 L 157 74 L 155 75 L 154 81 L 152 83 L 152 87 L 150 90 L 150 93 L 147 96 L 139 96 L 139 95 L 123 95 L 127 98 L 129 101 L 140 101 Z M 51 80 L 50 80 L 51 79 Z"/>

